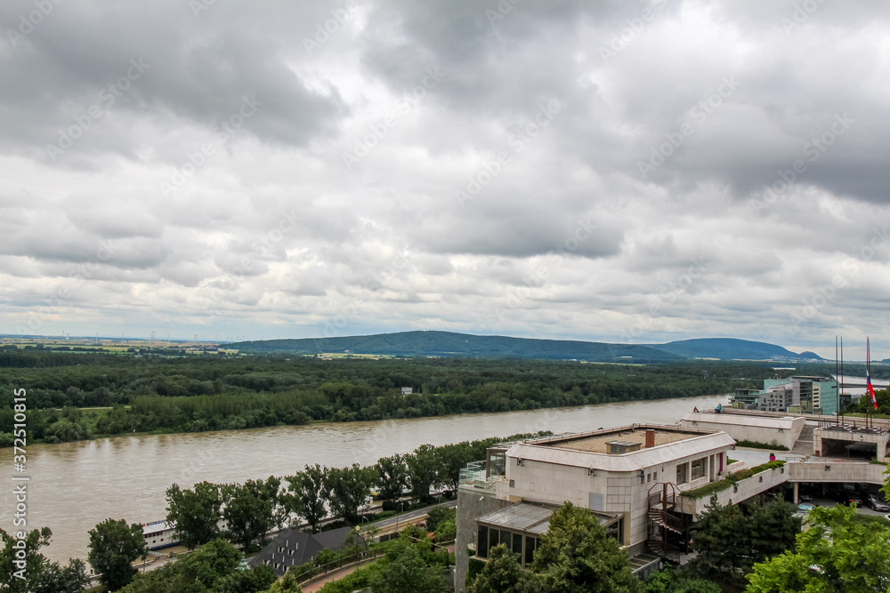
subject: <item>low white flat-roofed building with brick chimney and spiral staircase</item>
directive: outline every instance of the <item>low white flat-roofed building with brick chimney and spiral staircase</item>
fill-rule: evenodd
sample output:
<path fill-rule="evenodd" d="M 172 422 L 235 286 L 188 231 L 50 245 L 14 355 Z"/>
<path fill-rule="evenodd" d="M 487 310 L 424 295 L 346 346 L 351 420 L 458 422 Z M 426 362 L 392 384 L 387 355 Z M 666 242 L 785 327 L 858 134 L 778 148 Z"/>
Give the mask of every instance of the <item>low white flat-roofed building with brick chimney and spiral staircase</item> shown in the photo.
<path fill-rule="evenodd" d="M 493 447 L 458 489 L 458 585 L 467 547 L 485 559 L 506 543 L 530 562 L 564 501 L 595 513 L 632 557 L 647 544 L 683 549 L 692 516 L 680 512 L 678 494 L 724 477 L 733 445 L 721 431 L 635 424 Z"/>

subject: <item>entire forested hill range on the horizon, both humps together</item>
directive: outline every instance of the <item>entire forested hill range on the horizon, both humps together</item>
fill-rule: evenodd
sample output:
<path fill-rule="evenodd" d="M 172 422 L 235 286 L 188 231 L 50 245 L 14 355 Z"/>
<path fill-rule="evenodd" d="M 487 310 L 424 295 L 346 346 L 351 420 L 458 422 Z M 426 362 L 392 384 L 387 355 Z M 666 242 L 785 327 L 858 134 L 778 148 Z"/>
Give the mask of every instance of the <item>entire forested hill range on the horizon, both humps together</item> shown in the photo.
<path fill-rule="evenodd" d="M 670 362 L 691 358 L 721 360 L 821 361 L 813 352 L 797 354 L 774 344 L 735 338 L 704 338 L 667 344 L 610 344 L 595 341 L 537 340 L 468 333 L 416 331 L 366 336 L 242 341 L 227 348 L 244 353 L 316 355 L 348 353 L 391 357 L 475 357 L 587 360 L 589 362 Z"/>

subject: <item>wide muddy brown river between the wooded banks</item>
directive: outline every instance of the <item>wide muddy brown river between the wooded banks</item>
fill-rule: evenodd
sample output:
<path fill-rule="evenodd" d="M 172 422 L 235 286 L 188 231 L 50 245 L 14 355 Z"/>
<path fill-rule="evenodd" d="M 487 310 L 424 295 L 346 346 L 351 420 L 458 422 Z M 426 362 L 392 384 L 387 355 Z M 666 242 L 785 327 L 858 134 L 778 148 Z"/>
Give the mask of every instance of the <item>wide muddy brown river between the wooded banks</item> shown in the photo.
<path fill-rule="evenodd" d="M 53 560 L 86 557 L 90 529 L 106 518 L 146 523 L 166 516 L 165 491 L 207 480 L 243 482 L 287 476 L 307 464 L 369 465 L 418 445 L 445 445 L 521 432 L 579 432 L 633 422 L 674 423 L 693 406 L 726 404 L 727 397 L 585 405 L 530 412 L 481 413 L 395 421 L 344 422 L 266 429 L 101 438 L 27 449 L 28 471 L 13 472 L 12 449 L 0 457 L 0 476 L 28 476 L 28 530 L 49 526 Z M 20 484 L 20 483 L 15 483 Z M 12 532 L 15 501 L 4 488 L 0 527 Z M 21 529 L 20 527 L 16 528 Z"/>

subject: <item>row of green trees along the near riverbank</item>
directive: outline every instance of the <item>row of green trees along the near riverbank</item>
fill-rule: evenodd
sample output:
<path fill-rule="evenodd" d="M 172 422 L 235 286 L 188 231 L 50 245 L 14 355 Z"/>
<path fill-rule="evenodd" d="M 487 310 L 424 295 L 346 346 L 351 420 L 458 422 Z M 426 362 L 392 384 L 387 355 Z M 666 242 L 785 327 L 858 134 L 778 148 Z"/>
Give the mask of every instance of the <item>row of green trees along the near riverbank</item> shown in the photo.
<path fill-rule="evenodd" d="M 305 523 L 314 533 L 328 518 L 337 520 L 328 526 L 358 525 L 375 488 L 384 511 L 395 511 L 396 501 L 406 495 L 430 501 L 433 490 L 457 490 L 460 470 L 471 461 L 485 459 L 491 445 L 550 434 L 420 445 L 413 453 L 384 457 L 368 467 L 307 465 L 292 476 L 247 480 L 240 485 L 205 481 L 181 488 L 174 484 L 166 490 L 166 520 L 176 524 L 180 541 L 190 549 L 218 537 L 249 549 L 273 529 Z"/>

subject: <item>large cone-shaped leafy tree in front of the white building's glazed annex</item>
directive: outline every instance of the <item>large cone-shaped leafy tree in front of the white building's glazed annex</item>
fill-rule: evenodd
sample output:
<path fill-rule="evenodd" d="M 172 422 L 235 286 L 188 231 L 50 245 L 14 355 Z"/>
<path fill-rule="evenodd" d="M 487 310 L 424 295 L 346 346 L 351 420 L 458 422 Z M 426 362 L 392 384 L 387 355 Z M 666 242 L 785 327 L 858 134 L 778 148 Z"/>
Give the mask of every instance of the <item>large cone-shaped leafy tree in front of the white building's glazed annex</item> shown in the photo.
<path fill-rule="evenodd" d="M 569 501 L 550 516 L 531 570 L 538 573 L 541 591 L 547 593 L 624 593 L 640 587 L 618 541 L 606 535 L 587 509 Z"/>

